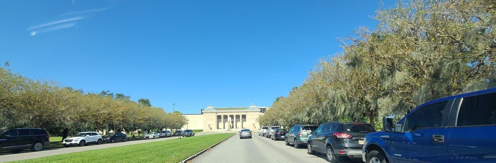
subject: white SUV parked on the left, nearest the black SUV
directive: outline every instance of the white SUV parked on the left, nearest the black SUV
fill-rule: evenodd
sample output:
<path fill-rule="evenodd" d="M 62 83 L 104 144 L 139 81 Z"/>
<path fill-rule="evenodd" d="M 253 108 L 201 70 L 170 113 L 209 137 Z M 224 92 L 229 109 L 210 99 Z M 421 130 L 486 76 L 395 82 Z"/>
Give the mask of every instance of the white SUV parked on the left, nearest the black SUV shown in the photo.
<path fill-rule="evenodd" d="M 82 147 L 88 144 L 102 144 L 102 141 L 102 135 L 98 132 L 78 132 L 70 138 L 65 138 L 62 141 L 62 145 L 64 147 L 70 147 L 72 145 Z"/>

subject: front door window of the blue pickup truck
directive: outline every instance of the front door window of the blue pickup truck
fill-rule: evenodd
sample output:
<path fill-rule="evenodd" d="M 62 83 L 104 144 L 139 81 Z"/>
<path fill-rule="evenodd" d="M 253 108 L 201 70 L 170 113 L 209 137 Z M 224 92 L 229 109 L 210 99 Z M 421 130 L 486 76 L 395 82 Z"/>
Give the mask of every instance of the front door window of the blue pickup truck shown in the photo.
<path fill-rule="evenodd" d="M 403 131 L 415 131 L 425 127 L 441 127 L 447 101 L 422 107 L 408 116 Z"/>

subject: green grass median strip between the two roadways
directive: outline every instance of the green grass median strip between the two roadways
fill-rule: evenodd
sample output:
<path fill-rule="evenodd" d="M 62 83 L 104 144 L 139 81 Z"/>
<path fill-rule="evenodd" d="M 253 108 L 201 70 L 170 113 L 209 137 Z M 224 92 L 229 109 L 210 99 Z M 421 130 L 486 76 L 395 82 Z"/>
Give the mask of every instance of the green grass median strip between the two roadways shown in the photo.
<path fill-rule="evenodd" d="M 10 163 L 178 163 L 231 135 L 234 134 L 226 133 L 184 137 L 181 139 L 74 152 Z"/>

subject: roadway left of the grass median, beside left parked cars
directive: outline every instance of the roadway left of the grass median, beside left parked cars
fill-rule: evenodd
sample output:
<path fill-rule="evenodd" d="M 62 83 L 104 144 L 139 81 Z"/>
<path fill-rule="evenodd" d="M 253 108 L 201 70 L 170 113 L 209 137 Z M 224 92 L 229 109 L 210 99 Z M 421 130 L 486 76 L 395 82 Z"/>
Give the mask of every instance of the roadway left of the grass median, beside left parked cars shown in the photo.
<path fill-rule="evenodd" d="M 208 134 L 198 133 L 196 135 L 208 135 Z M 18 160 L 35 159 L 35 158 L 41 158 L 41 157 L 46 157 L 46 156 L 67 154 L 67 153 L 72 153 L 72 152 L 81 152 L 81 151 L 96 150 L 96 149 L 102 149 L 102 148 L 127 146 L 127 145 L 132 145 L 132 144 L 164 141 L 164 140 L 177 139 L 177 138 L 178 137 L 176 136 L 176 137 L 160 138 L 160 139 L 145 139 L 145 140 L 118 142 L 118 143 L 103 143 L 101 145 L 88 145 L 88 146 L 83 146 L 83 147 L 56 148 L 56 149 L 42 150 L 39 152 L 30 152 L 29 150 L 24 150 L 25 152 L 22 152 L 19 154 L 2 153 L 2 154 L 0 154 L 0 162 L 11 162 L 11 161 L 18 161 Z"/>

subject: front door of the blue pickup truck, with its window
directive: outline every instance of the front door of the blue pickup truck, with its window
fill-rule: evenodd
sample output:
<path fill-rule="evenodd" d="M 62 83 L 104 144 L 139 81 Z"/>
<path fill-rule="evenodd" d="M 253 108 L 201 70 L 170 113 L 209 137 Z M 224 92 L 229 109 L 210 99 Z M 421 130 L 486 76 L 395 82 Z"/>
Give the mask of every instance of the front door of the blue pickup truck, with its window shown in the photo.
<path fill-rule="evenodd" d="M 452 101 L 426 105 L 407 115 L 403 130 L 391 133 L 393 163 L 447 163 L 446 119 Z M 449 109 L 446 109 L 449 106 Z M 448 111 L 446 111 L 448 112 Z"/>

